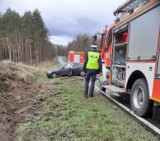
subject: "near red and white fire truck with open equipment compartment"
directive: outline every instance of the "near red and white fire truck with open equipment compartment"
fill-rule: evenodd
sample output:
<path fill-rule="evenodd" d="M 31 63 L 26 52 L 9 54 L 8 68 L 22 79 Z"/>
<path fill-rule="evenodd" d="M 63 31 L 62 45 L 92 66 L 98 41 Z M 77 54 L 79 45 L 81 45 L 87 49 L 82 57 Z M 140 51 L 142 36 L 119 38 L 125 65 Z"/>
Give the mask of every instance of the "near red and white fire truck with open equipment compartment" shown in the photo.
<path fill-rule="evenodd" d="M 102 89 L 129 93 L 135 114 L 160 105 L 160 1 L 128 0 L 101 38 Z"/>

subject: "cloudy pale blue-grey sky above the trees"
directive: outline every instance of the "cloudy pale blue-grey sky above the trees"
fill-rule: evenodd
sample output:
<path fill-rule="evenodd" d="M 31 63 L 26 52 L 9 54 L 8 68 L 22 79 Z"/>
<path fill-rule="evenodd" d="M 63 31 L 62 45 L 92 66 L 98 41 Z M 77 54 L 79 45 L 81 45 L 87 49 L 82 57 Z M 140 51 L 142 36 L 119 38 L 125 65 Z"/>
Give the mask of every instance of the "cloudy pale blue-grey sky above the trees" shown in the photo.
<path fill-rule="evenodd" d="M 67 45 L 78 34 L 102 32 L 115 17 L 113 11 L 126 0 L 0 0 L 0 12 L 7 8 L 20 15 L 38 9 L 55 44 Z"/>

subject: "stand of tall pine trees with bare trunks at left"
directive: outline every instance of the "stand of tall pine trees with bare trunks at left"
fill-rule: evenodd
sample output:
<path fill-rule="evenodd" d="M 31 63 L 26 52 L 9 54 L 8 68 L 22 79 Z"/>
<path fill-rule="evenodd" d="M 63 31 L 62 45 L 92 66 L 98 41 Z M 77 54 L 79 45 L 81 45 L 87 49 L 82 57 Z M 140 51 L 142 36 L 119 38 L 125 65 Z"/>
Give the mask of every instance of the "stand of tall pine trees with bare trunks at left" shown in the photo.
<path fill-rule="evenodd" d="M 48 39 L 48 30 L 38 9 L 26 11 L 23 16 L 10 8 L 0 14 L 0 60 L 32 65 L 56 55 L 55 45 Z"/>

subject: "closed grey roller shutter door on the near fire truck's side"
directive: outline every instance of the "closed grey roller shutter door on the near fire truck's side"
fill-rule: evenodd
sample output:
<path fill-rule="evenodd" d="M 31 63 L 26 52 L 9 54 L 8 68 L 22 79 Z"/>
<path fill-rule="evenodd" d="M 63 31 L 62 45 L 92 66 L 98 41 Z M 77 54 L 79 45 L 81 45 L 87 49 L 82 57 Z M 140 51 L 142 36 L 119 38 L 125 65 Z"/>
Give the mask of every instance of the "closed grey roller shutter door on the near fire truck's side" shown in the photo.
<path fill-rule="evenodd" d="M 143 13 L 131 22 L 129 60 L 155 58 L 160 24 L 160 6 Z"/>

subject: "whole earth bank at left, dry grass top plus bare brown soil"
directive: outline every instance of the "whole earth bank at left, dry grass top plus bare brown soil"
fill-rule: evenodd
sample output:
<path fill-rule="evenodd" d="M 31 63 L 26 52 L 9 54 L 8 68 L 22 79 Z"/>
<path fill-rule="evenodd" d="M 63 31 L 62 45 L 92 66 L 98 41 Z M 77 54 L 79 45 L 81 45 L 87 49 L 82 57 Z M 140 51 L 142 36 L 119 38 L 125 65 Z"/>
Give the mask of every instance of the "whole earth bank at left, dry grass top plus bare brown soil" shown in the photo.
<path fill-rule="evenodd" d="M 0 62 L 0 141 L 14 141 L 18 124 L 38 107 L 35 96 L 42 84 L 33 83 L 32 71 L 22 64 Z"/>

